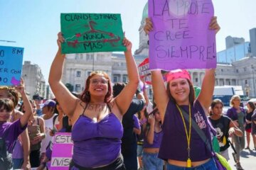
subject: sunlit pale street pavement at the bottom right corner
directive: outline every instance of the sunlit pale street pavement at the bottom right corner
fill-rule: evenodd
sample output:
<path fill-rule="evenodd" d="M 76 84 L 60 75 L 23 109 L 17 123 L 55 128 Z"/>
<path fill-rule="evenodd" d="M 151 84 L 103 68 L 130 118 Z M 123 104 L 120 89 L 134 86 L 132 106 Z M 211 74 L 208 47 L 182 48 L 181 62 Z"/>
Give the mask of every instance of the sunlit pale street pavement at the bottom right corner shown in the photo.
<path fill-rule="evenodd" d="M 247 147 L 246 137 L 245 137 L 245 147 Z M 256 150 L 253 150 L 253 141 L 252 136 L 250 136 L 250 150 L 249 149 L 243 149 L 240 153 L 240 164 L 243 169 L 245 170 L 256 170 Z M 230 160 L 228 163 L 232 167 L 233 170 L 236 170 L 235 168 L 235 161 L 232 156 L 233 149 L 231 146 L 228 148 L 229 157 Z"/>

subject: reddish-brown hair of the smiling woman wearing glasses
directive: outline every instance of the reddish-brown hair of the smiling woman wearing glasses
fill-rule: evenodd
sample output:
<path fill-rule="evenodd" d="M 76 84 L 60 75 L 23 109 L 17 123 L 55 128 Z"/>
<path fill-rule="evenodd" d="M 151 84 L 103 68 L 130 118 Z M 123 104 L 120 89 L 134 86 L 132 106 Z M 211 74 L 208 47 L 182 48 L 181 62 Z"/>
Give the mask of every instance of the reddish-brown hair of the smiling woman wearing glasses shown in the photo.
<path fill-rule="evenodd" d="M 87 77 L 86 81 L 85 81 L 85 90 L 82 91 L 82 94 L 80 96 L 81 101 L 84 101 L 85 103 L 89 103 L 90 102 L 90 94 L 89 94 L 89 86 L 90 86 L 90 79 L 92 77 L 94 77 L 95 75 L 98 74 L 103 74 L 103 76 L 108 80 L 107 81 L 107 95 L 105 96 L 105 103 L 110 103 L 111 99 L 112 99 L 112 86 L 111 86 L 111 79 L 110 77 L 107 75 L 106 72 L 102 72 L 102 71 L 95 71 L 92 72 L 90 74 L 89 77 Z"/>

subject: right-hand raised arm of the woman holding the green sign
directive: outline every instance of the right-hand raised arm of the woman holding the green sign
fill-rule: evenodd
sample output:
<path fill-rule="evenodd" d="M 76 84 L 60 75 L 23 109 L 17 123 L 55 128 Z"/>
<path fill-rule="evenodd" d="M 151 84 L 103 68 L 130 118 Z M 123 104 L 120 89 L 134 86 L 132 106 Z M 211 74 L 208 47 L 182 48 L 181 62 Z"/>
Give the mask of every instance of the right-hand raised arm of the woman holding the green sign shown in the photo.
<path fill-rule="evenodd" d="M 124 38 L 123 43 L 124 46 L 127 47 L 127 51 L 124 52 L 124 56 L 127 62 L 129 83 L 124 87 L 117 98 L 114 99 L 122 115 L 127 112 L 139 84 L 137 64 L 132 56 L 132 42 L 129 42 L 129 40 Z"/>

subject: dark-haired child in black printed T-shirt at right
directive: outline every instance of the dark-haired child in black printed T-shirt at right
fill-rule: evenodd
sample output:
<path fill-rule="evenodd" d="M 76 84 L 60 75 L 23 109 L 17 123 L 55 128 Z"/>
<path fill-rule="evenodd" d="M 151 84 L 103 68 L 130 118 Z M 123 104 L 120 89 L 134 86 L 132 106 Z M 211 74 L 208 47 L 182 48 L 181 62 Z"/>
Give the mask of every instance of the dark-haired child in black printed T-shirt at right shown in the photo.
<path fill-rule="evenodd" d="M 218 143 L 220 146 L 220 154 L 229 160 L 228 147 L 230 147 L 230 142 L 228 137 L 233 137 L 237 135 L 242 136 L 242 131 L 233 123 L 230 118 L 223 114 L 223 102 L 220 99 L 215 99 L 210 105 L 212 114 L 210 115 L 210 123 L 213 125 L 217 132 Z"/>

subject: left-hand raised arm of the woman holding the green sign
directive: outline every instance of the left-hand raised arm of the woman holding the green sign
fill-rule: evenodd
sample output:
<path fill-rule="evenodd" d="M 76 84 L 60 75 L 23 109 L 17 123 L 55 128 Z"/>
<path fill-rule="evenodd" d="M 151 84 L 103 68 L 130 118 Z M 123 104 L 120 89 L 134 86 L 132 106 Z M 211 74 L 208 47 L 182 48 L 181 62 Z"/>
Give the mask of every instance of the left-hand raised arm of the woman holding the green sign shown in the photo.
<path fill-rule="evenodd" d="M 75 112 L 76 101 L 78 101 L 78 98 L 73 96 L 61 81 L 65 60 L 65 55 L 61 54 L 61 42 L 64 42 L 64 38 L 61 33 L 58 33 L 58 52 L 51 64 L 48 82 L 50 84 L 50 89 L 62 106 L 64 113 L 69 117 L 72 117 Z"/>

